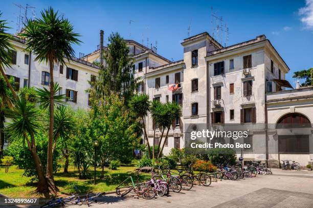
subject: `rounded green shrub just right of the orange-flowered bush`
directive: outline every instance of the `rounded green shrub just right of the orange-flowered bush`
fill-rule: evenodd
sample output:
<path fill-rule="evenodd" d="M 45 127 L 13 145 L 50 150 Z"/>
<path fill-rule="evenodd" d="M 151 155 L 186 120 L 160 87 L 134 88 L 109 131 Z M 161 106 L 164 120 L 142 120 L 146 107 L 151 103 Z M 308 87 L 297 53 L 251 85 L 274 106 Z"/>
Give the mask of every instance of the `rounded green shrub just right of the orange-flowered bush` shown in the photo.
<path fill-rule="evenodd" d="M 209 160 L 214 165 L 219 164 L 236 164 L 236 151 L 231 148 L 214 148 L 210 149 L 208 152 Z"/>

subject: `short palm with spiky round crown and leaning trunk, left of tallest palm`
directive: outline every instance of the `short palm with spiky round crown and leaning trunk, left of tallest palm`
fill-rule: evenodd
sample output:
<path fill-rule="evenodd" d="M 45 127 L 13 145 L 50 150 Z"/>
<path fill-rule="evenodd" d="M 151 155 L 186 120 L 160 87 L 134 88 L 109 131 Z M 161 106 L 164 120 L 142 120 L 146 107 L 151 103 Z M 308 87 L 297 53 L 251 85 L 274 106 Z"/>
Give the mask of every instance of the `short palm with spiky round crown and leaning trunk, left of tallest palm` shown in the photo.
<path fill-rule="evenodd" d="M 31 151 L 35 169 L 38 176 L 37 191 L 49 197 L 49 188 L 44 175 L 42 163 L 37 154 L 35 135 L 40 131 L 39 118 L 40 111 L 34 103 L 27 102 L 23 97 L 16 99 L 15 106 L 5 111 L 6 117 L 11 119 L 11 123 L 6 127 L 10 134 L 10 139 L 26 140 L 28 149 Z"/>

